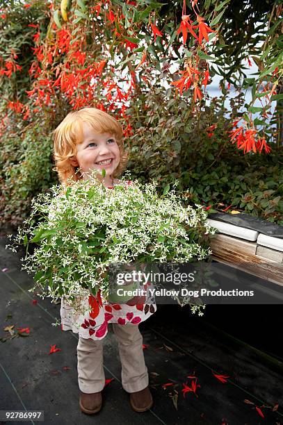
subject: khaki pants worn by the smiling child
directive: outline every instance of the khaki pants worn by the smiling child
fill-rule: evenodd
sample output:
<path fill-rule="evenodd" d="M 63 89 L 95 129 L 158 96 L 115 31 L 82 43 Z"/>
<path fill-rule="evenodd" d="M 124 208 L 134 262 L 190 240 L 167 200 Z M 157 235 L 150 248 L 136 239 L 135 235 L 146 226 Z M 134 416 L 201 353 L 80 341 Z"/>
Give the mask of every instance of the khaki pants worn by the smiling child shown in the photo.
<path fill-rule="evenodd" d="M 127 392 L 143 390 L 147 387 L 149 378 L 143 356 L 143 336 L 138 325 L 113 323 L 113 331 L 118 340 L 122 387 Z M 87 394 L 102 391 L 105 385 L 103 339 L 95 341 L 79 337 L 76 351 L 79 389 Z M 113 361 L 115 361 L 114 358 Z"/>

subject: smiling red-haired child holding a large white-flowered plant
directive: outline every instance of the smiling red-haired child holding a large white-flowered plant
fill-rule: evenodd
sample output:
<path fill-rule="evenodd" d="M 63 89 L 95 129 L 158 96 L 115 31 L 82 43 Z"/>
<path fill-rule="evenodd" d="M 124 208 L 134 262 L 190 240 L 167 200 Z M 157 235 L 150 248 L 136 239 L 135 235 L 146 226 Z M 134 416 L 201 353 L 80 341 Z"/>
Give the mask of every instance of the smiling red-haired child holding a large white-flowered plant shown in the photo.
<path fill-rule="evenodd" d="M 122 142 L 121 124 L 97 108 L 83 108 L 69 113 L 54 130 L 54 160 L 63 185 L 67 179 L 88 180 L 90 170 L 97 169 L 97 178 L 106 188 L 119 184 L 117 176 L 123 171 L 127 154 Z M 102 176 L 105 169 L 105 176 Z M 130 183 L 130 182 L 128 182 Z M 77 345 L 78 380 L 82 412 L 92 414 L 102 408 L 102 390 L 105 384 L 103 367 L 103 339 L 108 324 L 118 339 L 122 364 L 122 387 L 130 393 L 129 401 L 136 412 L 152 407 L 149 377 L 143 356 L 143 337 L 138 324 L 156 310 L 154 303 L 141 297 L 124 304 L 106 304 L 100 294 L 84 300 L 89 311 L 75 313 L 61 300 L 61 327 L 63 331 L 79 333 Z"/>

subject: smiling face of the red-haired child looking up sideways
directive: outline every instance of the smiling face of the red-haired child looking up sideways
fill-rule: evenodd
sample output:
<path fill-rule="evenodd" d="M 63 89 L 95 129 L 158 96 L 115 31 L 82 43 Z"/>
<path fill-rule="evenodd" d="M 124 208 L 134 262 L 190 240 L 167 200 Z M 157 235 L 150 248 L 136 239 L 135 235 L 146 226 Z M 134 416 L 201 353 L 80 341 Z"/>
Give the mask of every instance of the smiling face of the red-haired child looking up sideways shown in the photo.
<path fill-rule="evenodd" d="M 106 161 L 106 163 L 102 163 Z M 105 169 L 106 176 L 111 176 L 120 162 L 120 150 L 111 133 L 95 133 L 93 128 L 83 122 L 83 142 L 76 145 L 76 155 L 71 164 L 80 167 L 81 172 L 87 173 L 91 169 L 97 169 L 102 174 Z"/>

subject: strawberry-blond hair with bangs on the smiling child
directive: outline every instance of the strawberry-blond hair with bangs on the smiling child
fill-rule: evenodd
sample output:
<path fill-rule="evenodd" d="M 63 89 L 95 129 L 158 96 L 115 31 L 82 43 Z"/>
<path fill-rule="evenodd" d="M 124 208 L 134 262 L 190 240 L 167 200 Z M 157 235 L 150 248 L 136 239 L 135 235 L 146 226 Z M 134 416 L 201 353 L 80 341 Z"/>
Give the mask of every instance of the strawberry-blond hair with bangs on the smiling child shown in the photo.
<path fill-rule="evenodd" d="M 87 122 L 95 133 L 111 133 L 115 135 L 119 150 L 120 162 L 113 172 L 113 178 L 119 176 L 127 165 L 127 153 L 122 140 L 123 128 L 120 122 L 97 108 L 83 108 L 66 115 L 62 122 L 51 132 L 54 135 L 55 171 L 63 185 L 67 180 L 81 180 L 83 177 L 78 167 L 70 163 L 70 158 L 76 155 L 76 145 L 83 142 L 83 122 Z"/>

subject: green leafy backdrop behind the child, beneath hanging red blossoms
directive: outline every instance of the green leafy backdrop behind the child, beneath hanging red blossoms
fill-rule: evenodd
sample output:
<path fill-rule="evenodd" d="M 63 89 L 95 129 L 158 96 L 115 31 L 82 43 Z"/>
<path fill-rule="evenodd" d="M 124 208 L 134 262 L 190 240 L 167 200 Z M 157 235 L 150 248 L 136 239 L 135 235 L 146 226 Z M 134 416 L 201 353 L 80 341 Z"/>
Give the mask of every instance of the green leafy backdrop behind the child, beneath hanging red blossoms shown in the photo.
<path fill-rule="evenodd" d="M 181 37 L 177 36 L 177 28 L 181 22 L 182 1 L 177 2 L 177 5 L 175 2 L 168 1 L 162 3 L 147 1 L 146 3 L 138 1 L 137 6 L 134 6 L 118 0 L 113 1 L 116 6 L 122 6 L 125 17 L 124 27 L 127 28 L 129 36 L 124 35 L 122 31 L 122 38 L 134 39 L 136 42 L 140 40 L 138 48 L 131 51 L 129 47 L 121 49 L 121 38 L 113 33 L 114 26 L 117 31 L 120 31 L 116 21 L 109 28 L 109 25 L 105 25 L 104 19 L 93 17 L 90 19 L 92 15 L 88 13 L 89 2 L 86 4 L 84 1 L 72 2 L 72 7 L 75 6 L 77 10 L 77 21 L 72 21 L 74 26 L 71 29 L 75 37 L 72 42 L 81 39 L 81 30 L 87 34 L 83 51 L 88 54 L 88 63 L 81 66 L 86 67 L 90 63 L 95 63 L 98 58 L 99 60 L 105 58 L 105 51 L 111 53 L 113 58 L 115 54 L 122 52 L 121 62 L 115 68 L 112 68 L 112 64 L 106 64 L 105 69 L 108 69 L 108 74 L 107 72 L 102 74 L 97 87 L 95 90 L 92 89 L 92 92 L 97 93 L 97 99 L 102 101 L 106 110 L 114 110 L 109 108 L 113 106 L 113 103 L 106 101 L 99 91 L 106 76 L 109 75 L 114 80 L 114 76 L 121 76 L 121 69 L 126 67 L 130 70 L 134 69 L 136 61 L 141 60 L 145 47 L 148 47 L 147 62 L 144 67 L 139 68 L 137 73 L 136 92 L 132 98 L 129 98 L 130 107 L 126 108 L 127 115 L 121 113 L 119 108 L 115 109 L 117 116 L 120 113 L 121 117 L 125 118 L 122 122 L 124 127 L 131 118 L 130 125 L 134 128 L 134 135 L 127 141 L 130 152 L 129 169 L 132 176 L 140 181 L 150 181 L 154 178 L 160 183 L 161 190 L 165 191 L 168 183 L 174 182 L 177 178 L 179 190 L 187 191 L 186 196 L 192 202 L 205 203 L 207 206 L 213 205 L 213 208 L 220 209 L 232 204 L 234 209 L 243 209 L 252 215 L 259 215 L 270 222 L 283 225 L 282 147 L 275 148 L 271 144 L 273 151 L 269 155 L 264 153 L 243 155 L 235 145 L 230 144 L 228 137 L 228 131 L 231 130 L 230 124 L 235 117 L 243 115 L 238 113 L 244 103 L 241 94 L 236 99 L 232 99 L 229 114 L 223 106 L 224 96 L 221 99 L 213 99 L 209 106 L 204 106 L 203 101 L 200 102 L 200 112 L 198 112 L 193 102 L 191 103 L 190 92 L 183 97 L 175 98 L 172 90 L 165 92 L 164 88 L 160 87 L 159 78 L 168 77 L 170 81 L 171 75 L 168 69 L 172 63 L 181 65 L 185 58 L 195 55 L 195 40 L 188 38 L 187 49 L 185 49 L 187 56 L 182 57 Z M 213 54 L 216 58 L 214 63 L 218 64 L 223 83 L 228 81 L 236 84 L 238 81 L 238 85 L 241 86 L 241 77 L 244 76 L 245 69 L 242 69 L 241 60 L 246 56 L 250 55 L 254 59 L 261 73 L 266 72 L 266 69 L 268 72 L 273 72 L 276 63 L 280 60 L 282 35 L 279 34 L 282 19 L 278 15 L 278 2 L 273 5 L 273 2 L 268 0 L 249 0 L 248 3 L 248 8 L 241 8 L 235 1 L 207 0 L 200 4 L 200 15 L 208 18 L 208 24 L 213 22 L 215 24 L 222 14 L 219 20 L 220 26 L 213 26 L 220 31 L 220 44 L 207 45 L 207 53 L 209 56 Z M 32 1 L 29 8 L 24 8 L 23 1 L 13 3 L 1 1 L 0 4 L 1 7 L 7 7 L 6 18 L 0 19 L 1 69 L 7 71 L 6 60 L 12 60 L 12 62 L 15 60 L 22 67 L 20 71 L 12 72 L 10 76 L 1 74 L 0 110 L 6 110 L 8 101 L 26 102 L 26 90 L 33 88 L 34 82 L 38 85 L 34 74 L 32 76 L 29 72 L 32 64 L 39 69 L 45 69 L 47 73 L 45 76 L 50 78 L 51 83 L 54 82 L 53 71 L 51 72 L 51 65 L 46 56 L 48 49 L 43 49 L 45 53 L 42 60 L 38 61 L 33 49 L 46 46 L 51 48 L 58 40 L 52 28 L 54 22 L 49 19 L 51 14 L 49 3 Z M 59 10 L 59 5 L 60 1 L 56 1 L 56 10 Z M 190 8 L 189 2 L 187 7 Z M 70 4 L 67 10 L 69 8 L 71 8 Z M 119 8 L 117 10 L 119 11 Z M 191 12 L 191 10 L 188 11 Z M 151 12 L 155 13 L 157 26 L 165 34 L 163 40 L 167 36 L 168 45 L 161 44 L 159 37 L 156 38 L 156 42 L 153 41 L 152 30 L 148 25 L 149 20 L 152 19 Z M 87 26 L 80 27 L 79 23 L 84 25 L 86 19 Z M 270 30 L 266 33 L 268 20 Z M 142 27 L 140 27 L 141 21 Z M 254 22 L 259 21 L 260 28 L 254 26 Z M 120 22 L 123 25 L 123 21 Z M 38 30 L 29 24 L 38 25 L 39 33 L 37 34 Z M 60 24 L 64 24 L 61 15 Z M 254 37 L 254 32 L 259 33 L 259 38 Z M 264 49 L 261 49 L 257 44 L 260 44 L 259 42 L 266 35 L 268 37 Z M 35 43 L 37 37 L 42 40 L 42 44 Z M 58 69 L 63 67 L 67 60 L 67 53 L 61 55 L 59 50 L 54 56 L 54 63 L 58 65 Z M 201 59 L 199 67 L 204 69 L 205 60 L 211 61 L 211 57 L 208 58 L 201 51 L 198 51 L 198 54 Z M 17 58 L 14 55 L 17 55 Z M 55 65 L 52 65 L 53 70 L 56 69 Z M 211 67 L 211 75 L 217 73 L 216 71 Z M 150 87 L 143 83 L 144 76 L 149 77 Z M 42 76 L 39 74 L 38 78 Z M 252 95 L 260 97 L 261 93 L 255 90 L 256 82 L 256 78 L 245 78 L 243 88 L 252 87 Z M 279 105 L 282 99 L 282 94 L 279 94 L 280 88 L 282 90 L 282 81 L 278 83 L 277 94 L 274 92 L 271 99 L 276 100 Z M 38 85 L 38 87 L 45 89 L 45 86 Z M 83 81 L 74 91 L 73 100 L 79 98 L 81 93 L 88 93 L 88 88 Z M 224 85 L 223 93 L 227 93 Z M 22 222 L 29 214 L 31 199 L 38 192 L 48 190 L 56 181 L 55 173 L 52 171 L 52 142 L 49 131 L 58 125 L 71 108 L 68 102 L 70 99 L 65 97 L 65 94 L 60 93 L 59 90 L 56 91 L 50 106 L 44 104 L 40 106 L 39 113 L 31 113 L 30 125 L 26 125 L 26 121 L 19 114 L 14 113 L 13 107 L 10 107 L 8 118 L 5 117 L 5 122 L 10 124 L 1 135 L 2 222 L 11 224 Z M 34 98 L 36 101 L 39 100 L 38 90 L 35 90 Z M 25 106 L 28 105 L 31 111 L 34 110 L 31 100 L 25 103 Z M 251 108 L 255 107 L 250 106 L 250 110 Z M 277 112 L 280 112 L 279 108 Z M 217 127 L 211 131 L 213 135 L 209 137 L 207 128 L 213 124 L 217 124 Z M 254 124 L 266 123 L 255 119 Z M 276 134 L 274 128 L 268 124 L 266 135 L 269 133 Z"/>

